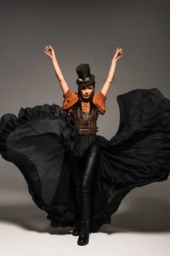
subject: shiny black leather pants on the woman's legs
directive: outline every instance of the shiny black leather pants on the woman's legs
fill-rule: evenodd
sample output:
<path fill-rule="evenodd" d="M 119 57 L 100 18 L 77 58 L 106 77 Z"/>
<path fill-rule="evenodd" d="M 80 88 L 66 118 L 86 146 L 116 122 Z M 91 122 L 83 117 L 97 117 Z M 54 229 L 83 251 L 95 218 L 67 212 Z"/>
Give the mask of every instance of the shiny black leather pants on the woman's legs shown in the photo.
<path fill-rule="evenodd" d="M 91 182 L 98 163 L 99 148 L 95 142 L 81 160 L 73 160 L 75 203 L 78 218 L 87 220 L 91 207 Z"/>

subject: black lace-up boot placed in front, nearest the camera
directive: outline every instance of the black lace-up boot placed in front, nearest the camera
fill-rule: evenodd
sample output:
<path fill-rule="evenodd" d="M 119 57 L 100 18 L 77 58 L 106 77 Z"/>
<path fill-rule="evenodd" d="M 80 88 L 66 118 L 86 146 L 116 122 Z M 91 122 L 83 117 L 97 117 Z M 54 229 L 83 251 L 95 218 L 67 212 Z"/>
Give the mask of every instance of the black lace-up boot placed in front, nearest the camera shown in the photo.
<path fill-rule="evenodd" d="M 89 240 L 89 225 L 90 225 L 90 220 L 82 220 L 81 221 L 81 230 L 80 230 L 80 235 L 79 239 L 77 240 L 78 245 L 86 245 L 88 244 Z"/>

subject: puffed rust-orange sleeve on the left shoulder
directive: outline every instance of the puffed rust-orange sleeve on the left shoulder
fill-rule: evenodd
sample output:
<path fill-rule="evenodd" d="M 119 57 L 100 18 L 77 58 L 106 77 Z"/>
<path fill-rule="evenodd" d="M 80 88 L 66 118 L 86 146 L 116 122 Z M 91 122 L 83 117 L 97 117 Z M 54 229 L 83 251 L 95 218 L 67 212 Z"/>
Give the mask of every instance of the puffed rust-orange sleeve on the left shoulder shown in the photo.
<path fill-rule="evenodd" d="M 62 103 L 62 111 L 64 113 L 68 113 L 71 111 L 71 107 L 77 102 L 78 93 L 73 93 L 70 89 L 68 89 L 68 91 L 62 96 L 64 97 L 64 101 Z"/>

